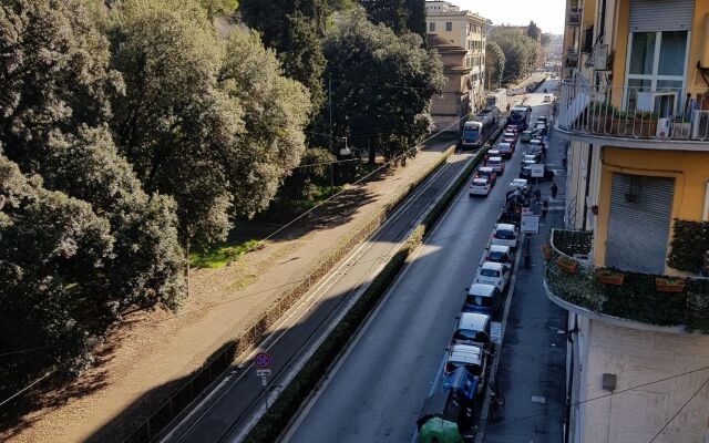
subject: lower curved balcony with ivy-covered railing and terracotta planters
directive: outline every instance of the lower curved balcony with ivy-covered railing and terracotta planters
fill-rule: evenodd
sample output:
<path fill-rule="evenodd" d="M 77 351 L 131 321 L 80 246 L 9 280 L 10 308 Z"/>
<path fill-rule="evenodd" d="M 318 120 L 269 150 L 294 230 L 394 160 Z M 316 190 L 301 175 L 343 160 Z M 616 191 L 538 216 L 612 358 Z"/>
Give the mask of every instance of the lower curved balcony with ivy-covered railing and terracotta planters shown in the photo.
<path fill-rule="evenodd" d="M 595 267 L 593 233 L 552 231 L 545 247 L 548 298 L 583 317 L 660 332 L 709 333 L 709 279 Z"/>

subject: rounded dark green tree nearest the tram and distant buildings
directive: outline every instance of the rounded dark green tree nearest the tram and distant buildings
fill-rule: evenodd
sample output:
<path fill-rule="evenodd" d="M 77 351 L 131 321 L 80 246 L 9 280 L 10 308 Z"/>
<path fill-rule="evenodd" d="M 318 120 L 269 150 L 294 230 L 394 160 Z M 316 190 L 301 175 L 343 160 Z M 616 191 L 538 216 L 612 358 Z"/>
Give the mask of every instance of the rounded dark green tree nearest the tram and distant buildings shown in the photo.
<path fill-rule="evenodd" d="M 429 131 L 431 96 L 444 79 L 440 59 L 421 47 L 419 35 L 398 37 L 362 9 L 343 14 L 326 37 L 333 133 L 366 136 L 372 162 L 377 150 L 388 158 L 413 156 L 411 147 Z"/>

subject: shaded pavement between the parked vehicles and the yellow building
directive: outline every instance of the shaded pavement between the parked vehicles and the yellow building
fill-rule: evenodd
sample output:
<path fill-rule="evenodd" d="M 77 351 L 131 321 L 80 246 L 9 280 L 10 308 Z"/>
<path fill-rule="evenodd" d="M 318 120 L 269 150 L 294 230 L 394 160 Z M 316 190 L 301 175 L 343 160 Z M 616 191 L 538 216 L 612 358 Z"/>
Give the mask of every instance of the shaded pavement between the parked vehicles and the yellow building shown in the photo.
<path fill-rule="evenodd" d="M 487 423 L 485 443 L 564 440 L 567 313 L 546 297 L 541 251 L 551 229 L 564 225 L 562 157 L 562 143 L 552 135 L 547 164 L 556 172 L 559 192 L 557 198 L 552 199 L 552 184 L 541 185 L 542 199 L 549 200 L 549 213 L 540 234 L 532 237 L 532 267 L 520 266 L 517 270 L 496 375 L 505 405 L 497 420 Z"/>

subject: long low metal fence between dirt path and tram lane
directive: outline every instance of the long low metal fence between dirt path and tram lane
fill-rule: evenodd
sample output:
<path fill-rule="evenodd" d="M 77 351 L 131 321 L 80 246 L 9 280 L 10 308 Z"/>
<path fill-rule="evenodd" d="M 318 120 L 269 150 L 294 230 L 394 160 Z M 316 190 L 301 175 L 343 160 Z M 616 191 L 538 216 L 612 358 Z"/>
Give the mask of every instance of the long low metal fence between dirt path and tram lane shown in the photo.
<path fill-rule="evenodd" d="M 258 343 L 268 329 L 278 321 L 292 306 L 307 293 L 322 277 L 325 277 L 342 258 L 350 254 L 352 248 L 368 238 L 393 209 L 411 192 L 421 184 L 425 177 L 443 164 L 454 152 L 454 146 L 449 147 L 443 155 L 408 186 L 394 196 L 394 198 L 363 222 L 350 230 L 322 259 L 307 274 L 307 276 L 290 285 L 282 296 L 278 298 L 264 313 L 255 319 L 244 332 L 234 341 L 217 351 L 202 368 L 185 382 L 185 384 L 171 395 L 162 405 L 143 421 L 133 431 L 124 443 L 150 443 L 162 435 L 167 426 L 189 403 L 192 403 L 210 383 L 218 379 L 227 370 L 237 357 Z"/>

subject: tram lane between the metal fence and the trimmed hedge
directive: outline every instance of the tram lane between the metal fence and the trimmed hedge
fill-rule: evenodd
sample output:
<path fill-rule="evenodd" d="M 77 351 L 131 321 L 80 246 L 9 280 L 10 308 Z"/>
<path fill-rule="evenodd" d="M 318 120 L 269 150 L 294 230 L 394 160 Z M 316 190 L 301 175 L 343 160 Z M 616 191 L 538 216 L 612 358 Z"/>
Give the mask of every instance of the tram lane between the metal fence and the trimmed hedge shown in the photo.
<path fill-rule="evenodd" d="M 268 394 L 271 400 L 271 389 L 279 390 L 287 384 L 287 378 L 292 375 L 294 368 L 304 362 L 307 351 L 317 347 L 343 308 L 354 301 L 354 297 L 399 249 L 417 219 L 448 188 L 471 156 L 471 153 L 454 155 L 443 167 L 436 169 L 400 205 L 370 240 L 356 248 L 349 258 L 316 289 L 304 296 L 301 302 L 276 324 L 266 341 L 259 346 L 260 351 L 268 351 L 273 357 L 274 377 L 269 379 Z M 264 409 L 261 381 L 256 377 L 253 364 L 246 364 L 228 373 L 162 441 L 239 441 L 243 430 Z"/>

